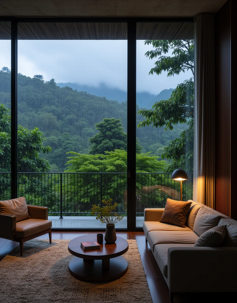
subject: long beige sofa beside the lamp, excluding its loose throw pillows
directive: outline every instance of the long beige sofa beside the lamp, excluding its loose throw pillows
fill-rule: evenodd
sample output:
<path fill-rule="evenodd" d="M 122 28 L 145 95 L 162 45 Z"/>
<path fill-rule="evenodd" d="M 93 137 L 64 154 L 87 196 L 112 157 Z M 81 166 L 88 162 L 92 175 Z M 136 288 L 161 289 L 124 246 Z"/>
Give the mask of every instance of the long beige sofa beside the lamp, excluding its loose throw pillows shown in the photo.
<path fill-rule="evenodd" d="M 237 221 L 191 201 L 186 227 L 159 220 L 164 208 L 144 209 L 144 234 L 170 291 L 237 291 Z M 221 247 L 194 247 L 198 237 L 217 225 L 227 225 Z"/>

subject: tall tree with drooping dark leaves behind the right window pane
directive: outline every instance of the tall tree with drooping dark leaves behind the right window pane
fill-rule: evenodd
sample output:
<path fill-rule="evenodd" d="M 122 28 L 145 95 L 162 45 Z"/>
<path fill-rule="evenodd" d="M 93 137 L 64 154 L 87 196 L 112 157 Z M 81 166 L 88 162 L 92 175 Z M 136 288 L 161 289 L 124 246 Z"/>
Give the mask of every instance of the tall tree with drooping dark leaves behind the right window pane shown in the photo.
<path fill-rule="evenodd" d="M 167 77 L 179 75 L 185 70 L 194 74 L 194 41 L 193 40 L 146 40 L 145 44 L 152 45 L 155 49 L 146 52 L 150 59 L 157 58 L 155 67 L 149 74 L 160 75 L 167 72 Z M 172 50 L 171 56 L 164 56 Z M 162 54 L 164 54 L 162 56 Z M 194 115 L 194 82 L 193 78 L 179 84 L 167 100 L 156 102 L 150 110 L 140 110 L 138 113 L 145 117 L 139 127 L 153 125 L 172 130 L 174 125 L 187 124 L 188 128 L 181 132 L 179 138 L 172 140 L 164 148 L 162 158 L 172 159 L 165 168 L 171 172 L 176 168 L 183 168 L 188 172 L 193 171 L 193 115 Z"/>

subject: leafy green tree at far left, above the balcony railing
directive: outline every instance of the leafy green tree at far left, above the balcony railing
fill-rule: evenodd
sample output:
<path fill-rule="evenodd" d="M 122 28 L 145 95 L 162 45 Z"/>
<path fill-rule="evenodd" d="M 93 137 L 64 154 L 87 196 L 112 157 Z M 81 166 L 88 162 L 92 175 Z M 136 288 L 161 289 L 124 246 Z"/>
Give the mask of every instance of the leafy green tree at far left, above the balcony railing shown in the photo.
<path fill-rule="evenodd" d="M 18 126 L 18 170 L 22 172 L 47 172 L 51 169 L 49 161 L 39 154 L 51 151 L 44 146 L 45 140 L 39 128 L 28 130 Z M 0 171 L 11 171 L 11 116 L 5 105 L 0 105 Z"/>

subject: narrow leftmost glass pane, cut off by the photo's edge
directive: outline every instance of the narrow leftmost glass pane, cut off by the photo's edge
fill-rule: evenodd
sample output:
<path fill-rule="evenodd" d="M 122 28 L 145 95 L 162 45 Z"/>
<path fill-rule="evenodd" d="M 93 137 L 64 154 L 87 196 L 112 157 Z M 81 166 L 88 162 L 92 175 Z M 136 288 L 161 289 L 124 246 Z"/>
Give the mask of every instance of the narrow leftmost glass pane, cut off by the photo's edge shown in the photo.
<path fill-rule="evenodd" d="M 11 22 L 0 22 L 0 200 L 11 198 Z"/>

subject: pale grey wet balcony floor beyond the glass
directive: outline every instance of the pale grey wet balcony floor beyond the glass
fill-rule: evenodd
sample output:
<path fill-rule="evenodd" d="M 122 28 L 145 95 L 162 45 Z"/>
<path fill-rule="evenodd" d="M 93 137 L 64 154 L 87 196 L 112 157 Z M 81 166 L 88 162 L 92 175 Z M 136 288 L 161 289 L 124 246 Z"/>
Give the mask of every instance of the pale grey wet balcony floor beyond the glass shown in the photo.
<path fill-rule="evenodd" d="M 52 221 L 52 228 L 106 228 L 105 223 L 96 220 L 95 217 L 85 216 L 64 216 L 59 219 L 57 216 L 49 216 Z M 136 226 L 142 227 L 144 217 L 136 217 Z M 127 228 L 127 217 L 116 223 L 116 228 Z"/>

